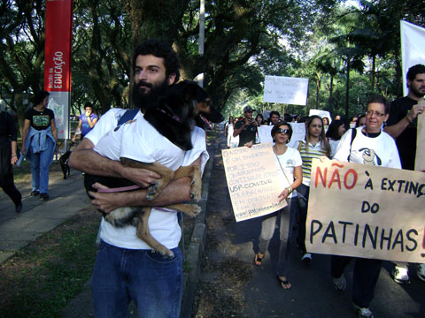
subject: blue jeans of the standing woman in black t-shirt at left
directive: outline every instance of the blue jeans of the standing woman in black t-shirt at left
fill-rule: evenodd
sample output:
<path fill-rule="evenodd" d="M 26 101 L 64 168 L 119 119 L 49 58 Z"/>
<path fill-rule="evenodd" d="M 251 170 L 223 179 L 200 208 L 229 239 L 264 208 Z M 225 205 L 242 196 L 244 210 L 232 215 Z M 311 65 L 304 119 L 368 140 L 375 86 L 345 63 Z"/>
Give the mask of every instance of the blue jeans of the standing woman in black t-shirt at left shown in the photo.
<path fill-rule="evenodd" d="M 31 184 L 33 191 L 40 193 L 48 193 L 49 191 L 49 168 L 53 161 L 55 152 L 55 143 L 50 138 L 46 138 L 48 148 L 39 153 L 32 153 L 32 148 L 29 149 L 29 160 L 31 161 Z"/>

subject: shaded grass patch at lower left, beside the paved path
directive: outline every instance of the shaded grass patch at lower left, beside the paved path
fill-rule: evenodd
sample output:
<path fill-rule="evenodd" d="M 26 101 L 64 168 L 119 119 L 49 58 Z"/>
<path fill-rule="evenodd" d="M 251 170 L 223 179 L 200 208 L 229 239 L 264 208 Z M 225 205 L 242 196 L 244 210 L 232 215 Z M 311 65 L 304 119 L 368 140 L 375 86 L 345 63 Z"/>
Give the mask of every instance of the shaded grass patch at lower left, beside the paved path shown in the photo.
<path fill-rule="evenodd" d="M 0 267 L 2 317 L 58 317 L 84 288 L 96 257 L 99 215 L 89 207 Z"/>

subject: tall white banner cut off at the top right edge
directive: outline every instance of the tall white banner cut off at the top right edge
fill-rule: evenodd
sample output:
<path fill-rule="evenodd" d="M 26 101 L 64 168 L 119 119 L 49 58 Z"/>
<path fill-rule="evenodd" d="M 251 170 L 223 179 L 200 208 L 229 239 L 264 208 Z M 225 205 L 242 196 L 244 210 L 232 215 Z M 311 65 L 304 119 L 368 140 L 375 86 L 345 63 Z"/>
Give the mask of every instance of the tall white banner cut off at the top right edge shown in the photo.
<path fill-rule="evenodd" d="M 406 96 L 406 74 L 410 67 L 425 64 L 425 28 L 400 21 L 401 58 L 403 64 L 403 93 Z"/>

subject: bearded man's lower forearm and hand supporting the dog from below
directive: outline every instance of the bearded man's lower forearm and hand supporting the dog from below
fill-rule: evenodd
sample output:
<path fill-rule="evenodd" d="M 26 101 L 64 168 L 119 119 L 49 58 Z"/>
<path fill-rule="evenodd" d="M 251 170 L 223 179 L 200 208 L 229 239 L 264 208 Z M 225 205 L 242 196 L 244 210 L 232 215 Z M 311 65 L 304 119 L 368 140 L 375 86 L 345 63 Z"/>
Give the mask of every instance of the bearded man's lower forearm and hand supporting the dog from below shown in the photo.
<path fill-rule="evenodd" d="M 201 166 L 201 157 L 191 164 Z M 146 189 L 136 190 L 133 192 L 124 193 L 92 193 L 91 196 L 95 199 L 92 201 L 100 210 L 109 213 L 116 208 L 121 207 L 137 207 L 137 206 L 158 206 L 164 207 L 170 204 L 192 201 L 190 198 L 191 179 L 189 177 L 178 178 L 172 180 L 162 190 L 158 197 L 153 201 L 146 200 Z M 96 189 L 105 188 L 100 184 L 95 184 Z"/>

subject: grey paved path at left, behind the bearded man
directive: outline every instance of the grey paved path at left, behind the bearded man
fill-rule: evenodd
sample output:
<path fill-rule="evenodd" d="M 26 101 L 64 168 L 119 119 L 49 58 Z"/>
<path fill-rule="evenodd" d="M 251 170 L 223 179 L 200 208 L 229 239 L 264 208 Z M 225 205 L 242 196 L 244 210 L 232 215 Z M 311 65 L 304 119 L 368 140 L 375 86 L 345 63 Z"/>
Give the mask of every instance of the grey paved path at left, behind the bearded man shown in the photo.
<path fill-rule="evenodd" d="M 30 182 L 16 186 L 22 193 L 23 208 L 19 214 L 10 198 L 0 192 L 0 263 L 89 204 L 81 172 L 77 170 L 72 170 L 65 180 L 62 172 L 50 172 L 49 201 L 30 196 Z"/>

